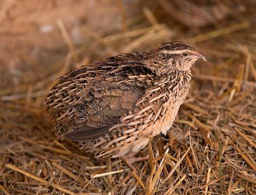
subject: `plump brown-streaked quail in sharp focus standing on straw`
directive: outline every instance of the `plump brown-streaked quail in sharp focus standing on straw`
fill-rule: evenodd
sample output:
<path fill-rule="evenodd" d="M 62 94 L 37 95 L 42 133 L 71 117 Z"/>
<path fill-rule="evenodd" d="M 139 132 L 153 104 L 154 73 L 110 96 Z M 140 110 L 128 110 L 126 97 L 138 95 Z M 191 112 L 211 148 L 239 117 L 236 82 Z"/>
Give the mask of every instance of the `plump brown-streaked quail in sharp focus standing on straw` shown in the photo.
<path fill-rule="evenodd" d="M 137 153 L 172 126 L 198 59 L 192 45 L 168 42 L 71 70 L 45 100 L 55 134 L 95 158 Z"/>

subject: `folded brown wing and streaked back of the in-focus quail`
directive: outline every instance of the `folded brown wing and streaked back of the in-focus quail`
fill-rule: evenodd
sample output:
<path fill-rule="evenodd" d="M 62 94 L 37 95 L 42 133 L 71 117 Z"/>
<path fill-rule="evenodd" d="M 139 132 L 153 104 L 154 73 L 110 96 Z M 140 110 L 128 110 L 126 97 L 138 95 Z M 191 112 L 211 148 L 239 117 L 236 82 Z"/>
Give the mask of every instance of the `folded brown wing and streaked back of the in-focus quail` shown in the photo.
<path fill-rule="evenodd" d="M 45 101 L 57 135 L 75 130 L 65 136 L 83 141 L 105 134 L 107 127 L 134 111 L 153 85 L 154 75 L 140 53 L 117 55 L 68 72 Z"/>

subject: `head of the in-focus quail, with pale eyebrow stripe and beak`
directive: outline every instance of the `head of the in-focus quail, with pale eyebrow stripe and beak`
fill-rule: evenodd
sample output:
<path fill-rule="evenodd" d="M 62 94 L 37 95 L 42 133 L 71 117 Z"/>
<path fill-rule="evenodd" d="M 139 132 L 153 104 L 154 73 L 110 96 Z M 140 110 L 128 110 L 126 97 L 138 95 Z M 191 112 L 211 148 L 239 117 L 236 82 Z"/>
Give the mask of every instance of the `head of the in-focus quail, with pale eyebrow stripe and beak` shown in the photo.
<path fill-rule="evenodd" d="M 161 61 L 165 69 L 176 69 L 180 71 L 189 71 L 194 63 L 202 59 L 206 61 L 205 56 L 197 52 L 195 47 L 182 42 L 163 43 L 156 50 L 152 50 L 158 61 Z"/>

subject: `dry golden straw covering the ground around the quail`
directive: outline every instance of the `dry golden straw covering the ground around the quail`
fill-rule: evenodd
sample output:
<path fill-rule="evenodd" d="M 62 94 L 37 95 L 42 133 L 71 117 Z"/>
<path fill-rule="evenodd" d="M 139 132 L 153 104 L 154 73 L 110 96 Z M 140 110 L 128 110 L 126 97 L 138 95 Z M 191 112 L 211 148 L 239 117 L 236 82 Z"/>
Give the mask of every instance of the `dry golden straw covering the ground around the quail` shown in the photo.
<path fill-rule="evenodd" d="M 148 8 L 143 13 L 146 17 L 124 19 L 123 31 L 112 35 L 87 29 L 91 42 L 79 47 L 58 21 L 67 55 L 43 67 L 27 54 L 22 68 L 1 70 L 0 193 L 256 193 L 253 16 L 182 29 L 179 23 L 167 27 Z M 149 161 L 134 163 L 138 174 L 119 159 L 94 160 L 75 142 L 54 136 L 42 103 L 55 78 L 103 56 L 147 50 L 166 40 L 196 44 L 208 61 L 194 67 L 190 93 L 168 135 L 138 154 L 149 155 Z"/>

